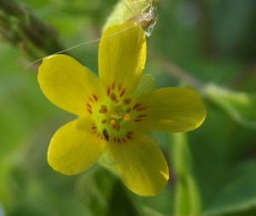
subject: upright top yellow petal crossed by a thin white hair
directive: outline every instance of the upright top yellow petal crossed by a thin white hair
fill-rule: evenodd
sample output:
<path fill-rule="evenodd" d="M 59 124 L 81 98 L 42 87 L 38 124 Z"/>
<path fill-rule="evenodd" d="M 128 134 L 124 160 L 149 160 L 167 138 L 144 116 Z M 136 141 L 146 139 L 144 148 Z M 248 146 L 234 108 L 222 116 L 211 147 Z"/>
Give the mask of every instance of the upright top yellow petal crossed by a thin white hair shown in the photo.
<path fill-rule="evenodd" d="M 104 31 L 99 47 L 99 76 L 107 87 L 132 93 L 141 78 L 146 60 L 146 39 L 141 26 L 125 22 Z"/>

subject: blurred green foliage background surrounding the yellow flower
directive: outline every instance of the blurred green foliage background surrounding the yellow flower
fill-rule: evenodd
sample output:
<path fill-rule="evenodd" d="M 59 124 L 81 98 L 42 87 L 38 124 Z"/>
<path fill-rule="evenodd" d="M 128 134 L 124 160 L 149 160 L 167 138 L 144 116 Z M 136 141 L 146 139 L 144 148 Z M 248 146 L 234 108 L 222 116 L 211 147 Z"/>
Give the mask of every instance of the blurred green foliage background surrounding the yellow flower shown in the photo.
<path fill-rule="evenodd" d="M 154 197 L 131 194 L 118 176 L 98 165 L 76 176 L 65 176 L 49 168 L 46 155 L 51 136 L 75 117 L 52 105 L 41 93 L 38 63 L 25 69 L 51 51 L 36 47 L 25 37 L 8 37 L 6 33 L 20 36 L 20 22 L 14 14 L 3 10 L 3 1 L 1 216 L 256 214 L 254 0 L 160 1 L 158 22 L 148 38 L 145 73 L 155 77 L 157 88 L 183 85 L 198 90 L 207 107 L 207 119 L 201 128 L 186 135 L 172 134 L 170 139 L 166 134 L 157 134 L 170 163 L 171 176 L 166 188 Z M 16 2 L 49 26 L 63 48 L 100 38 L 102 26 L 117 3 Z M 98 42 L 88 43 L 68 54 L 96 72 L 97 46 Z M 172 66 L 160 64 L 159 60 Z"/>

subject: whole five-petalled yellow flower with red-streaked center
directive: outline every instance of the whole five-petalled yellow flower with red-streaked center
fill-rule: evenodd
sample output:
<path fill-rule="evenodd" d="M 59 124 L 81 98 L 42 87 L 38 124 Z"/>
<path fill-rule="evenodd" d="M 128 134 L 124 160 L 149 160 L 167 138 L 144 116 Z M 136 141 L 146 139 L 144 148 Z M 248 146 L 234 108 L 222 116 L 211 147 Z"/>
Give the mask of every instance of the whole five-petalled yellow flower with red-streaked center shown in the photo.
<path fill-rule="evenodd" d="M 206 117 L 200 96 L 184 88 L 138 90 L 146 60 L 146 40 L 137 24 L 109 27 L 99 45 L 99 78 L 67 55 L 45 58 L 38 82 L 45 96 L 78 119 L 50 141 L 49 165 L 65 174 L 90 168 L 110 152 L 124 184 L 141 196 L 154 196 L 169 171 L 147 131 L 184 132 Z"/>

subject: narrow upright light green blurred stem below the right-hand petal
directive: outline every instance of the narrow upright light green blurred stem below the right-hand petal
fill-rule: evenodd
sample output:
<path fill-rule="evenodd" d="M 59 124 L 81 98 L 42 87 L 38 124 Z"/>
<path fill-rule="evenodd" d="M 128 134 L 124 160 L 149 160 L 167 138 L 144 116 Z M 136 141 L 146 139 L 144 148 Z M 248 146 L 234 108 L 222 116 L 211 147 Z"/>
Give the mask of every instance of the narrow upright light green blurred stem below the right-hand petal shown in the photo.
<path fill-rule="evenodd" d="M 193 159 L 185 134 L 171 134 L 172 164 L 176 174 L 175 215 L 200 215 L 201 197 L 194 175 Z"/>

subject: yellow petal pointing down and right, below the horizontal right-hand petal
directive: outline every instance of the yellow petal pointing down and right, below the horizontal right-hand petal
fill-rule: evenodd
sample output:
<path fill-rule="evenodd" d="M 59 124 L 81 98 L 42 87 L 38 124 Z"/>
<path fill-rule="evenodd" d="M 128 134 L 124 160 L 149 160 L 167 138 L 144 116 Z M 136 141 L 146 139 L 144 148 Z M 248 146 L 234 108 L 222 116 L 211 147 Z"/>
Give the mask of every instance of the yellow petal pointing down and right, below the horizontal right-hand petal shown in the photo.
<path fill-rule="evenodd" d="M 146 134 L 134 133 L 125 143 L 110 144 L 109 150 L 120 178 L 134 193 L 155 196 L 166 186 L 166 158 Z"/>

